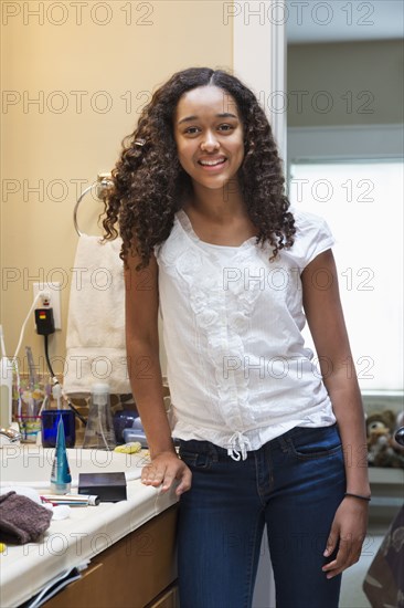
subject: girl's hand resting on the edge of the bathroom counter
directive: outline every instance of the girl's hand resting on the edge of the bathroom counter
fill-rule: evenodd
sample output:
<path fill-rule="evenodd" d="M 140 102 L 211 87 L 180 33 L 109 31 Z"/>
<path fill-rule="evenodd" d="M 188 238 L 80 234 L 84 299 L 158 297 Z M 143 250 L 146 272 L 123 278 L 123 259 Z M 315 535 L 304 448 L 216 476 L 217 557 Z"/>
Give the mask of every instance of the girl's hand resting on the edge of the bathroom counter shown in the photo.
<path fill-rule="evenodd" d="M 141 471 L 141 482 L 155 488 L 161 485 L 161 492 L 167 492 L 176 480 L 179 481 L 177 496 L 191 488 L 191 479 L 187 464 L 172 451 L 160 452 Z"/>

